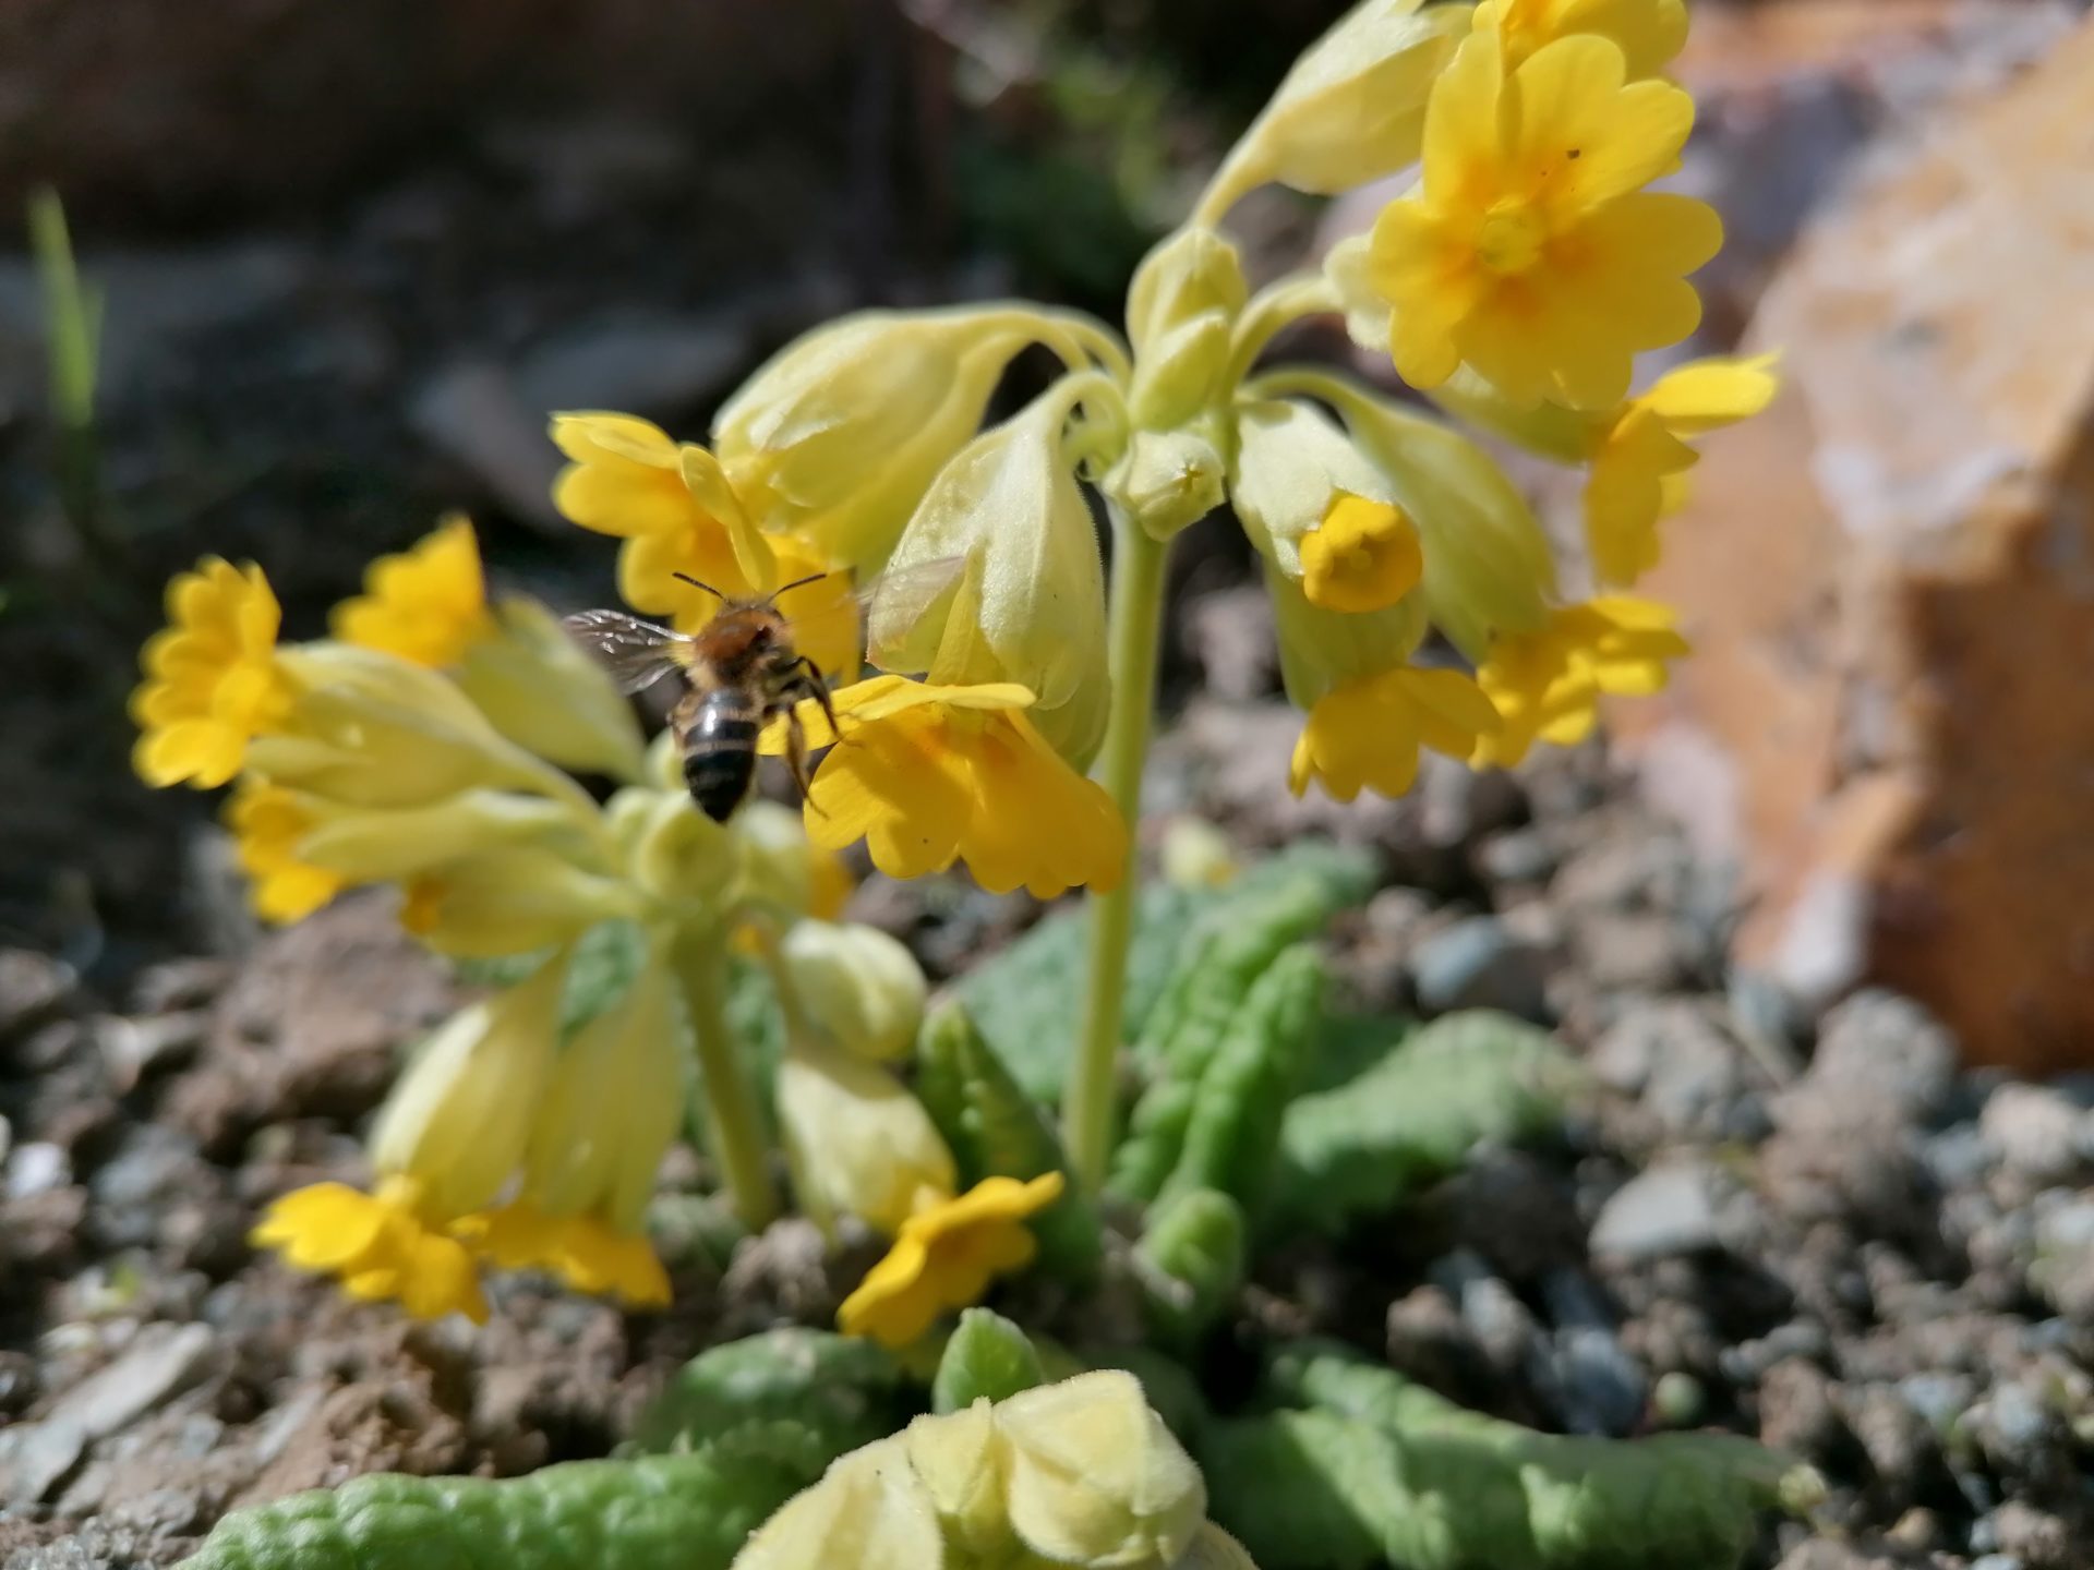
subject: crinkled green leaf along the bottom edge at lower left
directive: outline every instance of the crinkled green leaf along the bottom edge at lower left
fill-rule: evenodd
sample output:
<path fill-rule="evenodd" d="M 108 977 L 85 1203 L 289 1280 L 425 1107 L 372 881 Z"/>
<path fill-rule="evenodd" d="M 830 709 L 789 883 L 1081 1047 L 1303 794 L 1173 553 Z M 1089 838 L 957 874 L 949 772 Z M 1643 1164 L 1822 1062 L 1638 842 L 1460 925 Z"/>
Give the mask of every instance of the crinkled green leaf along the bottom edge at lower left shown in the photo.
<path fill-rule="evenodd" d="M 186 1570 L 727 1570 L 810 1478 L 764 1455 L 356 1478 L 226 1516 Z"/>

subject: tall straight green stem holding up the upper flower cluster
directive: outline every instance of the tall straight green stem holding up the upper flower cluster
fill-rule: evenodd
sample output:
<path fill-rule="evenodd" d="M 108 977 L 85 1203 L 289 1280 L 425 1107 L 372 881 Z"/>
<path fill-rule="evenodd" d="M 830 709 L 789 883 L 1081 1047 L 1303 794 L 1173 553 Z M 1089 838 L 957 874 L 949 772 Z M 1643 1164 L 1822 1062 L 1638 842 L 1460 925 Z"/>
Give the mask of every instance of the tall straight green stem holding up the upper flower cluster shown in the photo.
<path fill-rule="evenodd" d="M 1156 655 L 1162 643 L 1164 563 L 1171 546 L 1152 540 L 1127 513 L 1112 513 L 1112 718 L 1099 779 L 1127 821 L 1127 865 L 1112 894 L 1091 896 L 1091 973 L 1076 1063 L 1062 1099 L 1062 1143 L 1076 1183 L 1095 1193 L 1112 1156 L 1114 1082 L 1120 1055 L 1120 1005 L 1127 942 L 1135 925 L 1135 833 L 1141 825 L 1141 766 L 1150 754 L 1156 708 Z"/>

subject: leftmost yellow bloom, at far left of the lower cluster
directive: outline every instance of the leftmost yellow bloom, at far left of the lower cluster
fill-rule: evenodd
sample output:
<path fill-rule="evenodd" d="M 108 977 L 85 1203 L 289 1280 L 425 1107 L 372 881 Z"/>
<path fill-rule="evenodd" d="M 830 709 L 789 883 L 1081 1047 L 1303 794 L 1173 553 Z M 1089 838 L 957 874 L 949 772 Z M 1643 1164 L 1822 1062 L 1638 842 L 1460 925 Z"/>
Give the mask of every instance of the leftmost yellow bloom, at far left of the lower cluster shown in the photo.
<path fill-rule="evenodd" d="M 205 557 L 168 584 L 168 626 L 138 653 L 132 768 L 147 785 L 214 789 L 241 772 L 247 743 L 291 708 L 276 659 L 283 611 L 255 563 Z"/>

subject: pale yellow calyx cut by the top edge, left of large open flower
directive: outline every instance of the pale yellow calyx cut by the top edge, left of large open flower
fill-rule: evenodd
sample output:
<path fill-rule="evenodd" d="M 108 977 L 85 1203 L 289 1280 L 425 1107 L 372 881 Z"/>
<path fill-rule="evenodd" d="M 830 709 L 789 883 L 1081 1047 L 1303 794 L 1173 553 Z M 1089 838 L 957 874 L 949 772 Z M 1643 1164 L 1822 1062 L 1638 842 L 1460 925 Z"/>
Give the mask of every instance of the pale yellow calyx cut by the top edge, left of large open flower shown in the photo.
<path fill-rule="evenodd" d="M 1426 98 L 1464 31 L 1460 6 L 1361 0 L 1288 71 L 1198 216 L 1215 222 L 1269 180 L 1330 197 L 1418 157 Z"/>

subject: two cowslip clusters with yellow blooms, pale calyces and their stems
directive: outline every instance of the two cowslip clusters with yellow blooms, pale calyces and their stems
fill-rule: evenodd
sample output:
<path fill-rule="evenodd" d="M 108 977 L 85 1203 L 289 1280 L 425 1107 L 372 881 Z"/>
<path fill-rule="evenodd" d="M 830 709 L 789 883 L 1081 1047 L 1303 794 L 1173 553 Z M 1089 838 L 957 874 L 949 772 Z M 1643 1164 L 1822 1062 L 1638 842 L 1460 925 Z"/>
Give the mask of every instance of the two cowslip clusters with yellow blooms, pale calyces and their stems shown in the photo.
<path fill-rule="evenodd" d="M 775 595 L 831 685 L 838 733 L 815 703 L 800 714 L 817 745 L 840 741 L 812 772 L 804 839 L 760 806 L 729 827 L 689 810 L 668 745 L 643 747 L 559 624 L 488 603 L 463 521 L 377 563 L 327 643 L 279 647 L 255 567 L 176 580 L 144 651 L 138 772 L 239 781 L 228 816 L 258 906 L 293 919 L 346 885 L 398 883 L 402 919 L 442 952 L 544 955 L 406 1074 L 373 1141 L 377 1193 L 291 1195 L 264 1241 L 417 1310 L 477 1310 L 482 1258 L 658 1300 L 637 1225 L 685 1038 L 712 1153 L 743 1214 L 768 1214 L 762 1118 L 716 996 L 748 929 L 789 1019 L 779 1101 L 802 1202 L 896 1239 L 846 1325 L 911 1340 L 1024 1264 L 1024 1216 L 1060 1179 L 955 1195 L 951 1153 L 884 1066 L 915 1030 L 921 975 L 823 921 L 825 852 L 863 839 L 894 877 L 963 862 L 995 892 L 1097 896 L 1064 1105 L 1070 1172 L 1095 1187 L 1179 532 L 1229 504 L 1258 553 L 1305 712 L 1296 793 L 1397 795 L 1426 747 L 1510 766 L 1585 737 L 1602 695 L 1663 687 L 1686 641 L 1625 590 L 1658 561 L 1692 438 L 1776 387 L 1765 360 L 1702 360 L 1631 396 L 1635 356 L 1696 329 L 1686 274 L 1721 241 L 1705 203 L 1648 188 L 1694 121 L 1661 75 L 1684 38 L 1681 0 L 1363 0 L 1141 264 L 1124 335 L 1026 301 L 865 312 L 762 366 L 706 446 L 630 414 L 555 417 L 555 504 L 622 542 L 637 611 L 695 632 L 722 597 Z M 1248 190 L 1330 195 L 1405 170 L 1372 234 L 1250 289 L 1221 228 Z M 1386 352 L 1439 414 L 1261 364 L 1315 314 Z M 1060 373 L 984 427 L 1028 345 Z M 1606 592 L 1560 592 L 1531 509 L 1457 423 L 1587 469 Z M 1087 484 L 1112 519 L 1110 605 Z M 936 592 L 875 595 L 861 626 L 859 588 L 940 563 Z M 620 789 L 599 806 L 574 772 Z M 611 919 L 643 932 L 647 961 L 563 1045 L 570 955 Z"/>

